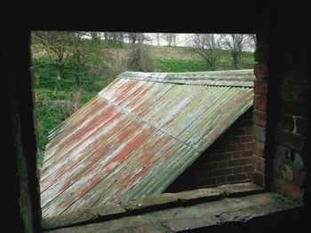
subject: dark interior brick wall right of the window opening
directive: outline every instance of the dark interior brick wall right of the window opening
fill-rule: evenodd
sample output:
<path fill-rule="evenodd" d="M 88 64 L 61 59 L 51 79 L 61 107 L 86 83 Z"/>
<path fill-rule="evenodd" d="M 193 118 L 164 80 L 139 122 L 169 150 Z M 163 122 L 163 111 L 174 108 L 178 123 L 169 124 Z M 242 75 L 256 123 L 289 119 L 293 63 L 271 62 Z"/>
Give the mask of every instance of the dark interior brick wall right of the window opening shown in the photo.
<path fill-rule="evenodd" d="M 294 7 L 275 12 L 257 34 L 253 182 L 306 201 L 311 45 L 306 15 Z"/>

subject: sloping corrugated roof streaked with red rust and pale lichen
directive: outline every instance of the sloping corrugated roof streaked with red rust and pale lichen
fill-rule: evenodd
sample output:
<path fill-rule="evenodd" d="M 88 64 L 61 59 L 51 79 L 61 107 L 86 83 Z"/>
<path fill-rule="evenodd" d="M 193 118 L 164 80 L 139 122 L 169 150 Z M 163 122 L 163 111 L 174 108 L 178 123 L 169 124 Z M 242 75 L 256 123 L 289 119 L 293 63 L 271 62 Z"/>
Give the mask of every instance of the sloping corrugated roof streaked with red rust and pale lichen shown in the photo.
<path fill-rule="evenodd" d="M 124 72 L 49 135 L 44 217 L 161 193 L 251 105 L 251 70 Z"/>

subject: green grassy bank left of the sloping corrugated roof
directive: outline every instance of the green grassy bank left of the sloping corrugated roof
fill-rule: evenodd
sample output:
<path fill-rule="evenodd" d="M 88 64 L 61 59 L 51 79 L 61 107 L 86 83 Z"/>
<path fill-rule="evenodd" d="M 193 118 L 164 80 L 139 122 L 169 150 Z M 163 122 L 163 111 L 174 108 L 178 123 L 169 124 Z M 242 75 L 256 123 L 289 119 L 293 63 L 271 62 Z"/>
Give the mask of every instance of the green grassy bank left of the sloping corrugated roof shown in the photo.
<path fill-rule="evenodd" d="M 36 101 L 36 135 L 38 141 L 37 165 L 41 166 L 48 133 L 61 121 L 105 88 L 109 81 L 99 75 L 84 72 L 79 85 L 73 64 L 66 63 L 66 74 L 58 78 L 56 66 L 48 58 L 33 58 L 31 67 Z"/>

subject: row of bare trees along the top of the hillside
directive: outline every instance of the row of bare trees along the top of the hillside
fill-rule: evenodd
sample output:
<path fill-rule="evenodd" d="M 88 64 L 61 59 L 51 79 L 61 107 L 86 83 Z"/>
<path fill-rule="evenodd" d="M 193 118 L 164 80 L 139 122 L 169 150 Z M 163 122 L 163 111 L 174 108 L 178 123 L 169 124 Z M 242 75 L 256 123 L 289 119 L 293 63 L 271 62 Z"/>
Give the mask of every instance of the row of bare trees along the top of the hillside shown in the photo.
<path fill-rule="evenodd" d="M 70 60 L 74 67 L 76 84 L 79 84 L 88 62 L 86 54 L 92 54 L 94 58 L 97 58 L 95 60 L 98 61 L 98 66 L 107 68 L 103 64 L 106 55 L 101 52 L 102 47 L 100 47 L 103 43 L 114 46 L 129 43 L 124 66 L 133 71 L 154 71 L 155 64 L 150 58 L 147 44 L 151 40 L 156 40 L 158 45 L 160 41 L 164 41 L 168 46 L 176 46 L 178 40 L 177 34 L 156 33 L 154 35 L 154 38 L 151 38 L 143 33 L 35 31 L 32 33 L 32 42 L 45 51 L 57 68 L 59 79 L 65 77 L 65 64 Z M 91 42 L 89 46 L 85 46 L 86 39 Z M 194 34 L 187 38 L 187 51 L 203 58 L 210 70 L 217 70 L 221 51 L 229 50 L 233 68 L 240 69 L 243 50 L 254 47 L 255 44 L 255 35 Z"/>

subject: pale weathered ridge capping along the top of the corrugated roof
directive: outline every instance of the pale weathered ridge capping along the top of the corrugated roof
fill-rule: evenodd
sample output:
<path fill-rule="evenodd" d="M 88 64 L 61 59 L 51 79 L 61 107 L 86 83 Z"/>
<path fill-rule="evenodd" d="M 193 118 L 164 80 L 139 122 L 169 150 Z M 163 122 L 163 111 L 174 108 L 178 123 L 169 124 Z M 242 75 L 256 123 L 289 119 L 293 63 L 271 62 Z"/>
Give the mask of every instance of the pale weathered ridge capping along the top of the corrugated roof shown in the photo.
<path fill-rule="evenodd" d="M 119 78 L 145 82 L 166 82 L 184 85 L 253 87 L 252 69 L 186 73 L 145 73 L 125 71 Z"/>

